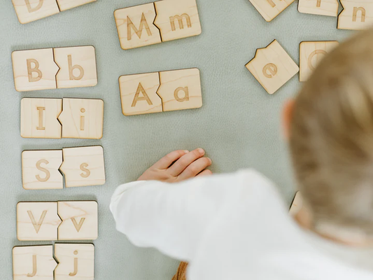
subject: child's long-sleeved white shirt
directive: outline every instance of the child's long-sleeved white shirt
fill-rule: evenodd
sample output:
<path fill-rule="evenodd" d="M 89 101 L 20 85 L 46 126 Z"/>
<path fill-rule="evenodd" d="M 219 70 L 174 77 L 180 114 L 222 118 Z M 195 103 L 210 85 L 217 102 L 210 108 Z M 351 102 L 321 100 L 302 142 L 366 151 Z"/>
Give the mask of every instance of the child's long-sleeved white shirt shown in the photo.
<path fill-rule="evenodd" d="M 136 246 L 190 262 L 189 280 L 373 279 L 372 270 L 319 248 L 332 242 L 302 230 L 272 182 L 253 170 L 127 183 L 111 211 Z"/>

